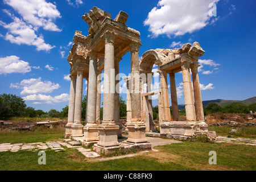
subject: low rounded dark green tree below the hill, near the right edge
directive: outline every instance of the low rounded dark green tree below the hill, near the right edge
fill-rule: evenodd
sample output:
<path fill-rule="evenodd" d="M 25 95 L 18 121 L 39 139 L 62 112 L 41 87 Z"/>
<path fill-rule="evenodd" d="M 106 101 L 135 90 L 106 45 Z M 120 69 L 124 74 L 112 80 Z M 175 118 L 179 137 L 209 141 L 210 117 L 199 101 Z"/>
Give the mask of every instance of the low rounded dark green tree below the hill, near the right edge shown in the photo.
<path fill-rule="evenodd" d="M 241 102 L 232 102 L 222 107 L 223 113 L 239 113 L 247 114 L 250 113 L 248 106 Z"/>

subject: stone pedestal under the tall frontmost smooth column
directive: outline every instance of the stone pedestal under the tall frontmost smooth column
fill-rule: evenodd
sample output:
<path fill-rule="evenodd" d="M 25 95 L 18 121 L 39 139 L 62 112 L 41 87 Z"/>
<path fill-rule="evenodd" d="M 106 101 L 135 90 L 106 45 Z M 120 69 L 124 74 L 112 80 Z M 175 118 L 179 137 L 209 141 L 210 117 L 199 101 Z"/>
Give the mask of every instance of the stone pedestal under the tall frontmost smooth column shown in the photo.
<path fill-rule="evenodd" d="M 100 140 L 97 143 L 98 146 L 101 147 L 113 147 L 119 146 L 117 140 L 117 133 L 119 130 L 119 126 L 115 125 L 114 122 L 102 122 L 100 126 L 98 126 L 98 131 L 100 133 Z"/>

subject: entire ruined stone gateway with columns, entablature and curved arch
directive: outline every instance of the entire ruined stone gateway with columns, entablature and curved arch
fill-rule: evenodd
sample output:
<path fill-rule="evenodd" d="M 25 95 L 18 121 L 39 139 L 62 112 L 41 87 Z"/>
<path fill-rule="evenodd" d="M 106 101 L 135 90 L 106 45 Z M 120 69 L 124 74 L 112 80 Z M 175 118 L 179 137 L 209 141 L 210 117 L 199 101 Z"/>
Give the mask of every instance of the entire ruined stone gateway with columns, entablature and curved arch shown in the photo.
<path fill-rule="evenodd" d="M 127 18 L 128 15 L 120 11 L 115 19 L 112 19 L 109 13 L 97 7 L 93 7 L 89 13 L 82 16 L 89 25 L 88 36 L 76 31 L 73 37 L 74 44 L 68 56 L 71 65 L 71 86 L 65 137 L 80 138 L 86 146 L 94 143 L 94 150 L 97 152 L 108 153 L 125 146 L 151 148 L 145 133 L 155 132 L 150 98 L 153 94 L 158 94 L 159 98 L 161 134 L 191 136 L 196 131 L 207 131 L 197 74 L 198 57 L 204 54 L 203 49 L 198 43 L 194 43 L 192 47 L 191 44 L 185 44 L 182 48 L 174 50 L 150 50 L 145 52 L 139 61 L 139 47 L 142 45 L 140 33 L 126 26 Z M 123 79 L 127 83 L 129 137 L 119 143 L 118 136 L 122 135 L 123 126 L 119 122 L 119 80 L 116 77 L 119 73 L 119 62 L 127 52 L 131 52 L 131 76 Z M 151 92 L 154 64 L 159 67 L 161 89 Z M 192 69 L 196 109 L 189 68 Z M 175 73 L 179 71 L 183 74 L 187 122 L 179 122 L 177 110 Z M 171 79 L 174 121 L 171 121 L 167 73 Z M 104 78 L 102 121 L 101 77 Z M 88 81 L 85 126 L 81 124 L 83 78 Z M 147 84 L 146 93 L 142 84 Z"/>

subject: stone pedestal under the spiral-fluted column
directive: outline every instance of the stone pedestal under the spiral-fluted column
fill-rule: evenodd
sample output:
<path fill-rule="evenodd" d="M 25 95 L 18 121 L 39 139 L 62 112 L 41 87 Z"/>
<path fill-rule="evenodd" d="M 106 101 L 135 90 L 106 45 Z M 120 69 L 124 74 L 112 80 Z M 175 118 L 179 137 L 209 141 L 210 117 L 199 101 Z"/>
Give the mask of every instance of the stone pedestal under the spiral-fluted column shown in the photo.
<path fill-rule="evenodd" d="M 146 126 L 142 122 L 127 123 L 127 129 L 129 130 L 129 137 L 126 142 L 130 143 L 144 143 L 146 139 Z"/>

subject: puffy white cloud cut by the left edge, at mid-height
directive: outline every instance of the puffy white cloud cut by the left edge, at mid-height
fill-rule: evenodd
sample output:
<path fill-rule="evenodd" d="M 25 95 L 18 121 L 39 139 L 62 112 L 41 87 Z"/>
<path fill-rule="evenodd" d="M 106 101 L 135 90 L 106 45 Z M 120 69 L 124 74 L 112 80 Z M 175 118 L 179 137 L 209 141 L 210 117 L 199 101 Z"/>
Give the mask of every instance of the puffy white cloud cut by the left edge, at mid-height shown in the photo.
<path fill-rule="evenodd" d="M 31 72 L 28 62 L 20 60 L 17 56 L 0 57 L 0 75 L 7 73 L 27 73 Z"/>

